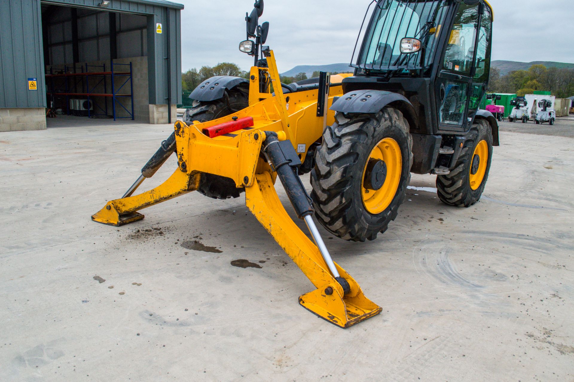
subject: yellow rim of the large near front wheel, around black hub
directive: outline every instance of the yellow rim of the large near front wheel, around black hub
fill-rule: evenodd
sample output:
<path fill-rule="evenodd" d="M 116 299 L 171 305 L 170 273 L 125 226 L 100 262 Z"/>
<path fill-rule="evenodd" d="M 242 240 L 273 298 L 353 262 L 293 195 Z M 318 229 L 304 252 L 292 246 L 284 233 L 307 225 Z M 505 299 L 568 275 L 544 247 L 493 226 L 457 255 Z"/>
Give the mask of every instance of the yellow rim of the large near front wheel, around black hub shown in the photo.
<path fill-rule="evenodd" d="M 387 175 L 385 183 L 378 190 L 369 190 L 364 186 L 364 176 L 367 164 L 371 159 L 382 160 L 386 164 Z M 371 151 L 363 169 L 361 190 L 364 207 L 371 214 L 380 214 L 385 211 L 397 194 L 398 184 L 401 181 L 402 155 L 401 148 L 393 138 L 383 138 Z"/>

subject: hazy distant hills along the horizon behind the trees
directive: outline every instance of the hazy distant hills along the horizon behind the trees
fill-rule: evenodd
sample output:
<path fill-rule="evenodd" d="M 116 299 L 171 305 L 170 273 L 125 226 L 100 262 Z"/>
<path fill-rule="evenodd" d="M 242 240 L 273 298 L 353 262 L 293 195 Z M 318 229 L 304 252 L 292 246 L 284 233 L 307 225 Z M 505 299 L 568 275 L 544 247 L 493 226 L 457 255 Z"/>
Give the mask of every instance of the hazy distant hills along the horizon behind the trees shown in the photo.
<path fill-rule="evenodd" d="M 501 75 L 507 75 L 511 71 L 514 70 L 528 70 L 532 65 L 541 64 L 547 68 L 569 68 L 574 69 L 574 64 L 568 63 L 557 63 L 554 61 L 532 61 L 530 63 L 522 63 L 519 61 L 504 61 L 504 60 L 496 60 L 492 61 L 492 66 L 501 70 Z M 351 68 L 349 64 L 342 63 L 342 64 L 327 64 L 327 65 L 297 65 L 292 70 L 286 71 L 285 73 L 281 73 L 282 76 L 292 77 L 299 73 L 305 73 L 308 77 L 313 75 L 314 71 L 323 71 L 323 72 L 331 72 L 335 73 L 351 73 L 354 68 Z"/>

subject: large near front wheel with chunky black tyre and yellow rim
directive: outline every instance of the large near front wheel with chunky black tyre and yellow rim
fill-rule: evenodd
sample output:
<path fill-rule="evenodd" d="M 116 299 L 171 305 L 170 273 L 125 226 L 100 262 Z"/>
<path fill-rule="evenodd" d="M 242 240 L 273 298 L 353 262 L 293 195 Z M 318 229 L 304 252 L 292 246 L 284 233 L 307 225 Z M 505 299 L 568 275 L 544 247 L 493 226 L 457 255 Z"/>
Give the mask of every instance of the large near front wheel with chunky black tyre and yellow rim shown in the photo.
<path fill-rule="evenodd" d="M 397 217 L 413 164 L 413 138 L 401 111 L 335 115 L 315 153 L 311 198 L 332 234 L 374 240 Z"/>

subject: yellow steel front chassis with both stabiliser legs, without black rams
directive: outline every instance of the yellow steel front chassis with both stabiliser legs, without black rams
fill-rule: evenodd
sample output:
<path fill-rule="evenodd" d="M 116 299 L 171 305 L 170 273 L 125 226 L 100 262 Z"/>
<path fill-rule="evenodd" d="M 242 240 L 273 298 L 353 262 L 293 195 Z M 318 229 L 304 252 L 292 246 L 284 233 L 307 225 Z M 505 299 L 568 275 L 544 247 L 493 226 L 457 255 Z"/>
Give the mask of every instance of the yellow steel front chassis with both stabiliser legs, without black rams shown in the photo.
<path fill-rule="evenodd" d="M 195 121 L 191 126 L 183 121 L 176 122 L 178 168 L 164 183 L 139 195 L 111 200 L 92 215 L 92 220 L 113 226 L 134 222 L 144 218 L 137 211 L 197 190 L 202 173 L 230 178 L 236 187 L 245 187 L 246 206 L 317 288 L 301 295 L 300 304 L 335 325 L 348 327 L 378 314 L 381 307 L 367 299 L 359 284 L 335 264 L 340 276 L 350 284 L 351 291 L 343 293 L 315 243 L 286 213 L 274 187 L 276 173 L 259 155 L 265 132 L 276 132 L 280 140 L 290 140 L 296 149 L 305 145 L 305 149 L 300 150 L 301 161 L 304 161 L 307 148 L 319 140 L 325 123 L 333 123 L 334 112 L 328 107 L 333 97 L 342 95 L 342 78 L 331 78 L 339 84 L 329 89 L 325 121 L 316 115 L 318 90 L 284 95 L 273 51 L 267 57 L 267 64 L 269 68 L 251 68 L 249 107 L 246 109 L 214 121 Z M 260 70 L 269 72 L 276 92 L 274 97 L 259 92 Z M 236 136 L 209 138 L 201 133 L 204 128 L 232 121 L 232 117 L 248 116 L 254 119 L 253 128 L 236 131 L 233 133 Z M 331 291 L 328 288 L 332 288 L 332 294 L 325 292 Z"/>

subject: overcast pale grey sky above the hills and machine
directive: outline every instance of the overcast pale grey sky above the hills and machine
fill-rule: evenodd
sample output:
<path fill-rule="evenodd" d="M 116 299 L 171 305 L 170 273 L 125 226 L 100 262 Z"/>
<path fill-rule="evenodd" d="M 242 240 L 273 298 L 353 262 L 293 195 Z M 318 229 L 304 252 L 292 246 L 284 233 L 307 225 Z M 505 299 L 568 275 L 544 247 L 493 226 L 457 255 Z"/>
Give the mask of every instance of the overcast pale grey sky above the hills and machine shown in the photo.
<path fill-rule="evenodd" d="M 238 50 L 245 13 L 254 0 L 174 0 L 181 12 L 182 69 L 219 62 L 243 70 L 253 59 Z M 267 45 L 280 72 L 296 65 L 351 61 L 371 0 L 265 0 L 259 23 L 269 21 Z M 494 9 L 493 60 L 574 62 L 573 0 L 490 0 Z"/>

